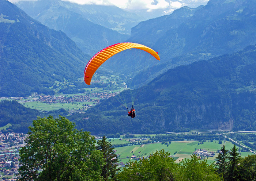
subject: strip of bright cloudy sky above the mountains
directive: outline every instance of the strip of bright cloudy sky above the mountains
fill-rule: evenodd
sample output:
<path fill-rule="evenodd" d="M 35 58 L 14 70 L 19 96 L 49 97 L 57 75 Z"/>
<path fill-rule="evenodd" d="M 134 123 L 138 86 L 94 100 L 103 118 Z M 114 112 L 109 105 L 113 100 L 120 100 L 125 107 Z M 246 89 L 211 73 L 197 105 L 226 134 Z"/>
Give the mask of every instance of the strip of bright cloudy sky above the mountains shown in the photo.
<path fill-rule="evenodd" d="M 16 3 L 20 0 L 9 0 Z M 70 1 L 77 4 L 96 4 L 96 5 L 115 5 L 122 9 L 127 10 L 141 10 L 145 9 L 152 12 L 156 9 L 163 10 L 166 14 L 173 12 L 175 9 L 183 6 L 191 8 L 198 7 L 199 5 L 206 5 L 209 0 L 63 0 Z"/>

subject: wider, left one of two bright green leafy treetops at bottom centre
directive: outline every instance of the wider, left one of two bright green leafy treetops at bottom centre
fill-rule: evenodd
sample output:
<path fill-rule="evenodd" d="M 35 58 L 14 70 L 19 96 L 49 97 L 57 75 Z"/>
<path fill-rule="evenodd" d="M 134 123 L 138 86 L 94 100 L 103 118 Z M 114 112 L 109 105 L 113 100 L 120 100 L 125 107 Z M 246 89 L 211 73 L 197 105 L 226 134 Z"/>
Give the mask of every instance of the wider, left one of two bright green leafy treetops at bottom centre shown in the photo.
<path fill-rule="evenodd" d="M 164 150 L 150 154 L 150 157 L 139 161 L 129 162 L 117 175 L 120 181 L 159 181 L 175 180 L 178 163 Z"/>

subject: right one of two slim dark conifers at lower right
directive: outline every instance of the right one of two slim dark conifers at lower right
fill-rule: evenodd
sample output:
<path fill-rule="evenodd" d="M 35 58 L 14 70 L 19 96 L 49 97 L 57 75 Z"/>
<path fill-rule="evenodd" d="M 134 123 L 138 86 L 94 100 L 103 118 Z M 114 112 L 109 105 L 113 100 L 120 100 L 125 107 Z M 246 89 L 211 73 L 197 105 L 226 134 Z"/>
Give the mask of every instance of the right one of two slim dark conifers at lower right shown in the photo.
<path fill-rule="evenodd" d="M 236 148 L 236 145 L 233 146 L 233 148 L 230 150 L 229 153 L 229 166 L 227 167 L 227 181 L 234 181 L 238 180 L 239 178 L 239 161 L 240 161 L 240 155 L 238 153 L 238 149 Z"/>

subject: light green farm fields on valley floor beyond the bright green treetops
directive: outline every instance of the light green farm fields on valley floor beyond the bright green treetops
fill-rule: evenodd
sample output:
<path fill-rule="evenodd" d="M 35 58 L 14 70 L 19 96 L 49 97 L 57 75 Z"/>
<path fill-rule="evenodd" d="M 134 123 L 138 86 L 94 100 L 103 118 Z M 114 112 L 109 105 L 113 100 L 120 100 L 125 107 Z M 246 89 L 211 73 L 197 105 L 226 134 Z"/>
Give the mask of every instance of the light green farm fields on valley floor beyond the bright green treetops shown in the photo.
<path fill-rule="evenodd" d="M 123 142 L 124 141 L 124 142 Z M 125 139 L 122 141 L 123 143 L 127 143 Z M 157 150 L 162 150 L 164 149 L 165 151 L 168 151 L 171 155 L 174 156 L 176 159 L 176 162 L 181 161 L 182 159 L 189 159 L 190 156 L 192 155 L 193 151 L 195 149 L 206 149 L 209 151 L 214 151 L 215 155 L 214 157 L 208 157 L 207 162 L 212 163 L 215 162 L 214 159 L 217 157 L 218 153 L 216 153 L 217 150 L 221 149 L 223 145 L 225 145 L 226 149 L 230 150 L 233 147 L 233 144 L 231 142 L 222 142 L 220 145 L 218 141 L 213 141 L 213 142 L 204 142 L 203 144 L 197 145 L 197 141 L 173 141 L 169 146 L 162 144 L 161 142 L 159 143 L 151 143 L 151 144 L 146 144 L 146 145 L 132 145 L 132 146 L 124 146 L 124 147 L 116 147 L 115 150 L 116 154 L 119 154 L 120 157 L 119 161 L 120 162 L 128 162 L 131 158 L 132 155 L 136 155 L 136 157 L 147 157 L 150 155 L 150 153 L 154 153 Z M 112 143 L 112 144 L 121 144 L 121 143 Z M 133 152 L 132 152 L 133 151 Z M 140 152 L 140 153 L 139 153 Z M 174 154 L 176 153 L 176 154 Z M 252 153 L 250 152 L 241 152 L 240 153 L 242 157 L 245 157 L 247 155 L 250 155 Z M 129 157 L 129 158 L 127 158 Z M 134 161 L 134 159 L 131 159 Z"/>

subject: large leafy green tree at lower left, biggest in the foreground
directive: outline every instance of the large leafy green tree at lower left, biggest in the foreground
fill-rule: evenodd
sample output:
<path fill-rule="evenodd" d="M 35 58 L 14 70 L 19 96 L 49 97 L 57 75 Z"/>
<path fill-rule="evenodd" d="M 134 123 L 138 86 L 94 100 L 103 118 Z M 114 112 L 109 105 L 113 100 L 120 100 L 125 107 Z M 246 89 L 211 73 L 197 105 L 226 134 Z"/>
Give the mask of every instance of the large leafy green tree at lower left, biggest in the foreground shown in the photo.
<path fill-rule="evenodd" d="M 101 180 L 102 155 L 89 132 L 61 116 L 38 117 L 29 130 L 20 150 L 21 181 Z"/>

